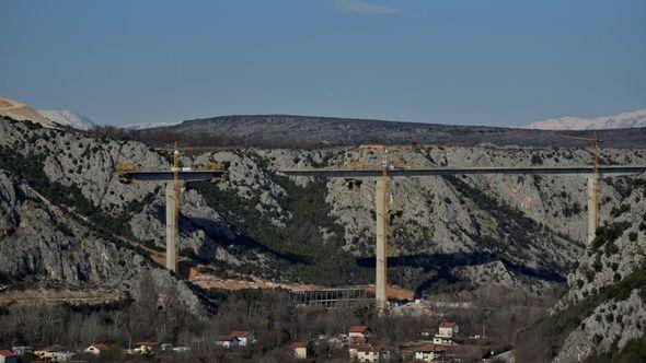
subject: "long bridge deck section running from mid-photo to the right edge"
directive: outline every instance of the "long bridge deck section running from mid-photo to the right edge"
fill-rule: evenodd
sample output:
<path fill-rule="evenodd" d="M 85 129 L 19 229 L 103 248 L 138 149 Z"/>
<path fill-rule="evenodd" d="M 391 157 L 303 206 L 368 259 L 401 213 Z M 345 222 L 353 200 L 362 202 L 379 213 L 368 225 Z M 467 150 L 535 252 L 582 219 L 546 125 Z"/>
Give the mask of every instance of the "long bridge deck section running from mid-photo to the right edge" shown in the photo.
<path fill-rule="evenodd" d="M 344 168 L 285 168 L 279 173 L 289 176 L 314 177 L 379 177 L 381 169 L 344 169 Z M 599 165 L 600 174 L 639 174 L 646 172 L 646 165 Z M 591 165 L 577 166 L 473 166 L 473 167 L 429 167 L 389 169 L 390 177 L 432 176 L 432 175 L 469 175 L 469 174 L 592 174 Z"/>

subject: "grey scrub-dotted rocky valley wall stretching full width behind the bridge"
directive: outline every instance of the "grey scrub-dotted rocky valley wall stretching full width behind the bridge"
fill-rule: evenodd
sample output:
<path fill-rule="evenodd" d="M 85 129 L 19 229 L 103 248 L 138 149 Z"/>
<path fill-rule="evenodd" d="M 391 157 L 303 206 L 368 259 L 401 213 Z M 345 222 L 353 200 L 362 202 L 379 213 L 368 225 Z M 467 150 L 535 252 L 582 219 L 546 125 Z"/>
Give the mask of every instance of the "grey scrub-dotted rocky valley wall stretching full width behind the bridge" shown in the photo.
<path fill-rule="evenodd" d="M 0 152 L 7 164 L 0 165 L 5 175 L 0 179 L 0 248 L 7 250 L 0 255 L 2 276 L 37 274 L 81 288 L 123 285 L 135 295 L 140 274 L 134 271 L 147 269 L 160 283 L 186 289 L 186 300 L 194 301 L 199 311 L 199 298 L 183 282 L 149 265 L 141 251 L 118 247 L 101 233 L 111 231 L 151 248 L 164 246 L 162 186 L 124 185 L 113 171 L 120 162 L 148 171 L 166 169 L 168 155 L 139 142 L 4 119 L 0 120 Z M 591 155 L 581 149 L 481 145 L 402 150 L 390 157 L 407 166 L 484 166 L 578 165 L 588 164 Z M 355 161 L 374 166 L 379 160 L 373 151 L 344 147 L 187 153 L 181 160 L 184 166 L 221 162 L 228 165 L 229 175 L 223 184 L 188 184 L 182 194 L 184 256 L 279 281 L 369 283 L 373 180 L 348 190 L 343 179 L 288 179 L 273 171 L 347 167 Z M 602 162 L 644 164 L 646 153 L 605 149 Z M 23 175 L 24 180 L 13 180 L 15 175 Z M 626 195 L 625 183 L 602 180 L 601 221 L 636 221 L 644 214 L 646 197 L 638 191 Z M 33 197 L 32 188 L 41 188 L 55 207 L 65 207 L 69 215 L 89 222 L 64 221 L 54 208 Z M 644 261 L 644 233 L 633 223 L 614 242 L 625 255 L 599 257 L 599 276 L 588 279 L 585 268 L 597 257 L 582 243 L 587 204 L 582 176 L 394 179 L 389 190 L 391 209 L 403 211 L 390 229 L 389 280 L 420 294 L 440 281 L 468 286 L 495 283 L 541 293 L 567 277 L 572 291 L 563 304 L 569 304 L 585 298 L 586 291 L 615 282 L 615 273 L 624 278 Z M 622 203 L 632 206 L 631 210 L 616 210 Z M 66 235 L 66 229 L 71 235 Z M 636 241 L 631 239 L 633 232 Z M 90 236 L 81 237 L 85 233 Z M 603 245 L 597 250 L 605 249 Z M 576 261 L 576 271 L 568 276 Z M 331 271 L 333 278 L 316 280 L 322 271 Z"/>

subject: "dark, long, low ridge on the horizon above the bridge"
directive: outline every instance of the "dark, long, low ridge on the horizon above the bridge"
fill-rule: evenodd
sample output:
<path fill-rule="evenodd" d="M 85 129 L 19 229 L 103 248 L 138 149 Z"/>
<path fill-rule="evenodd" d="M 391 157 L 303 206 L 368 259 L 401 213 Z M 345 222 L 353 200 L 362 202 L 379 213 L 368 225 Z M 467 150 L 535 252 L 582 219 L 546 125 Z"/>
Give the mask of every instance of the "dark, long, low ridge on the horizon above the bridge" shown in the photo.
<path fill-rule="evenodd" d="M 562 131 L 489 126 L 400 122 L 370 119 L 297 116 L 234 115 L 186 120 L 145 130 L 129 130 L 154 145 L 252 145 L 258 148 L 323 148 L 361 143 L 419 143 L 473 147 L 575 147 L 581 144 Z M 567 131 L 588 136 L 591 131 Z M 609 147 L 646 149 L 646 128 L 598 131 Z"/>

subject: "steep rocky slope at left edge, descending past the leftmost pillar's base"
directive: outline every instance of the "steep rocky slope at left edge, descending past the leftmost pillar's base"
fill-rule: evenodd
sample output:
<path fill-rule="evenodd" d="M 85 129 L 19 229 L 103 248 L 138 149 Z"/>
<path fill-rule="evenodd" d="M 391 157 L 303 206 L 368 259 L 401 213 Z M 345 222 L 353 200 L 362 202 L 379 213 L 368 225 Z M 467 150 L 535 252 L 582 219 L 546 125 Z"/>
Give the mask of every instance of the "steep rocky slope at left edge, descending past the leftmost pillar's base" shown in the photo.
<path fill-rule="evenodd" d="M 30 186 L 0 169 L 0 271 L 7 281 L 36 276 L 45 286 L 101 289 L 137 298 L 142 276 L 173 289 L 191 312 L 208 307 L 186 283 L 123 244 L 105 241 Z M 31 283 L 28 288 L 36 288 Z"/>

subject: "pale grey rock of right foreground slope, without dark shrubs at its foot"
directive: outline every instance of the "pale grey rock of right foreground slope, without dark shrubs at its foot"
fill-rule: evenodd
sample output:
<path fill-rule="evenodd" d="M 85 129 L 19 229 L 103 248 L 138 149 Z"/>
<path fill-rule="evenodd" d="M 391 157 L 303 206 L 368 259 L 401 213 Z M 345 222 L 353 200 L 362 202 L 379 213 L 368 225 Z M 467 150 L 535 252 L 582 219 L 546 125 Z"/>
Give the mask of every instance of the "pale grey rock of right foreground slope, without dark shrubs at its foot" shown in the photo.
<path fill-rule="evenodd" d="M 644 339 L 646 327 L 646 183 L 644 175 L 611 182 L 618 202 L 597 238 L 567 277 L 569 290 L 556 306 L 593 304 L 567 336 L 555 362 L 580 362 L 621 351 Z M 588 312 L 589 311 L 589 312 Z"/>

